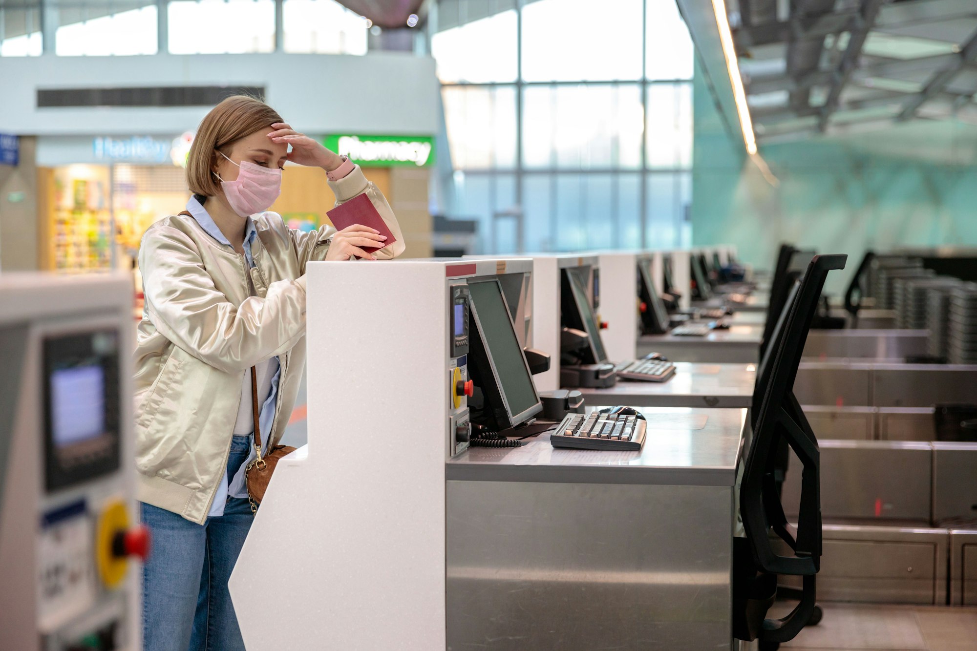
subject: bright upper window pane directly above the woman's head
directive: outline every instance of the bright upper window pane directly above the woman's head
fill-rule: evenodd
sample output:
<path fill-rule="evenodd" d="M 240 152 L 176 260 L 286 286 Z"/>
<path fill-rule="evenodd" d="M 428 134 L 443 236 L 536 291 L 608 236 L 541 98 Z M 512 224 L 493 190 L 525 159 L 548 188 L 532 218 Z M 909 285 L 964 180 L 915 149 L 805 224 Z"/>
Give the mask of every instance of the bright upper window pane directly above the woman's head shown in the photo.
<path fill-rule="evenodd" d="M 275 0 L 170 0 L 171 54 L 275 51 Z"/>

